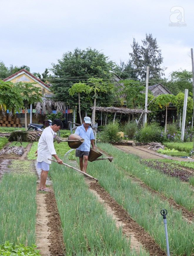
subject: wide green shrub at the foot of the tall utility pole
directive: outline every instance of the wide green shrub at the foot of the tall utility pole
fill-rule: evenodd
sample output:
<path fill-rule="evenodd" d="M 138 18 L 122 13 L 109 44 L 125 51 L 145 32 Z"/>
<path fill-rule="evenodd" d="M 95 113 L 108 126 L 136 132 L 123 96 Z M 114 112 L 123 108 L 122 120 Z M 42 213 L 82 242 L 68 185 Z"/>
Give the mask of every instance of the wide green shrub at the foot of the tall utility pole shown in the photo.
<path fill-rule="evenodd" d="M 163 142 L 165 139 L 164 133 L 161 132 L 161 129 L 158 124 L 149 124 L 145 128 L 141 128 L 139 131 L 136 131 L 135 140 L 138 142 Z"/>

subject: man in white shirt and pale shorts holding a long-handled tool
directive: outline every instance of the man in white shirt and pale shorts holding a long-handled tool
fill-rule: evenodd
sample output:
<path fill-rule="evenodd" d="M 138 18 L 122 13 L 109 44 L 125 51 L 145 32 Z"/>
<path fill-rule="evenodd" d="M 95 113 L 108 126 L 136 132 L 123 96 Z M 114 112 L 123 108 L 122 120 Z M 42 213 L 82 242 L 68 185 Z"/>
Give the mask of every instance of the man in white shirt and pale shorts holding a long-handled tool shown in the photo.
<path fill-rule="evenodd" d="M 37 168 L 42 169 L 40 175 L 39 191 L 51 192 L 50 189 L 46 188 L 46 178 L 49 171 L 49 165 L 51 161 L 48 158 L 52 156 L 57 160 L 58 164 L 62 164 L 63 161 L 57 156 L 53 139 L 55 132 L 58 132 L 60 128 L 63 128 L 63 123 L 60 119 L 54 119 L 51 126 L 46 127 L 39 139 L 37 154 Z"/>

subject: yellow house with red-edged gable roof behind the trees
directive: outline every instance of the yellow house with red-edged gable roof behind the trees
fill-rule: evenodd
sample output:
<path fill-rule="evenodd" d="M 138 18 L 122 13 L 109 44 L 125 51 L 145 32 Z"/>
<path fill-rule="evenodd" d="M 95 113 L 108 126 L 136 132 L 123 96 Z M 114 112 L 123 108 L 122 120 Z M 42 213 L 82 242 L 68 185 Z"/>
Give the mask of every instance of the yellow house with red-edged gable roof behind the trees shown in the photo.
<path fill-rule="evenodd" d="M 46 83 L 43 83 L 39 78 L 36 78 L 36 76 L 32 75 L 30 72 L 25 70 L 24 68 L 16 72 L 15 74 L 5 78 L 3 81 L 11 81 L 12 83 L 33 83 L 34 86 L 41 88 L 40 93 L 42 93 L 42 97 L 44 98 L 50 98 L 53 96 L 53 93 L 50 90 L 50 86 Z M 30 105 L 30 113 L 27 114 L 27 122 L 30 123 L 38 123 L 38 120 L 36 120 L 35 116 L 32 115 L 32 104 Z M 24 114 L 19 113 L 16 114 L 13 118 L 19 118 L 20 124 L 24 125 Z"/>

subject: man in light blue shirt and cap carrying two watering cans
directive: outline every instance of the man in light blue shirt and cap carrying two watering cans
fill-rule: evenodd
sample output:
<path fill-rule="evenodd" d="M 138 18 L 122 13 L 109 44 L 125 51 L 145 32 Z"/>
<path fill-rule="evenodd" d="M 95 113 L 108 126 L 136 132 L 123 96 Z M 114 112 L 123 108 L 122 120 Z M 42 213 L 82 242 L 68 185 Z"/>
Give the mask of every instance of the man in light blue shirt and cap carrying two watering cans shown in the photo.
<path fill-rule="evenodd" d="M 76 157 L 79 157 L 80 170 L 86 173 L 88 165 L 88 155 L 90 152 L 90 144 L 94 149 L 94 134 L 92 128 L 89 126 L 91 119 L 85 116 L 83 124 L 78 126 L 75 133 L 84 139 L 84 142 L 76 149 Z"/>

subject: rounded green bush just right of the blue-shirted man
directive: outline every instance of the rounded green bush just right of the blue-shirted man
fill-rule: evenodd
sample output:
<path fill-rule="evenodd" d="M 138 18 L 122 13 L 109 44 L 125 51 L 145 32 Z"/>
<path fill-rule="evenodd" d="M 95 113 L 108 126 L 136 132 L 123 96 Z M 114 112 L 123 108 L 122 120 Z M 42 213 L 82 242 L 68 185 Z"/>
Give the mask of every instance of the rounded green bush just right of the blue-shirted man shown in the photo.
<path fill-rule="evenodd" d="M 121 136 L 118 135 L 119 124 L 118 122 L 108 123 L 103 132 L 101 133 L 100 140 L 101 142 L 118 142 L 121 141 Z"/>

